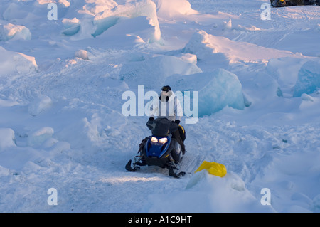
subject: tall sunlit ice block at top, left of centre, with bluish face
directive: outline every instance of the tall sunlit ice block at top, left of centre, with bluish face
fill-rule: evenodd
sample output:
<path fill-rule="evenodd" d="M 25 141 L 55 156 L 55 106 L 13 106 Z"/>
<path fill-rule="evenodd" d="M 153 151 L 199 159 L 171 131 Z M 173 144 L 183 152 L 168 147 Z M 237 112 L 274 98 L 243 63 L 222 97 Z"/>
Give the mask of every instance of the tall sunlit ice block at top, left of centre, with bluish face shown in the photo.
<path fill-rule="evenodd" d="M 143 16 L 148 21 L 147 24 L 153 27 L 148 36 L 147 42 L 159 41 L 161 31 L 156 14 L 156 4 L 151 0 L 125 1 L 122 4 L 112 0 L 103 1 L 78 1 L 72 8 L 78 7 L 78 14 L 66 14 L 63 19 L 66 36 L 73 36 L 74 39 L 84 39 L 100 36 L 102 33 L 127 19 L 134 19 Z M 79 9 L 82 6 L 82 9 Z M 67 17 L 69 16 L 69 18 Z M 127 23 L 120 26 L 118 30 L 110 32 L 116 36 L 131 35 L 133 31 L 145 30 L 139 28 L 142 23 Z M 121 31 L 121 33 L 117 33 Z M 144 39 L 143 37 L 142 39 Z M 145 40 L 145 39 L 144 39 Z"/>

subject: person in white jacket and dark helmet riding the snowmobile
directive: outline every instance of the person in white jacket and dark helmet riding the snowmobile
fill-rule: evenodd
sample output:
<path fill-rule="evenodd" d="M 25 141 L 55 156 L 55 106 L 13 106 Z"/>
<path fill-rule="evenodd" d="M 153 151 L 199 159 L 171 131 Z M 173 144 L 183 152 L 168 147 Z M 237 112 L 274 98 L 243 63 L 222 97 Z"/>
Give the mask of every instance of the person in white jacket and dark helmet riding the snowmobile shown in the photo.
<path fill-rule="evenodd" d="M 186 152 L 184 146 L 185 131 L 180 125 L 181 117 L 183 116 L 183 110 L 178 97 L 174 95 L 169 85 L 163 86 L 161 88 L 161 94 L 159 96 L 159 105 L 151 110 L 151 117 L 149 117 L 148 122 L 146 122 L 149 130 L 154 128 L 154 117 L 167 118 L 171 121 L 170 132 L 172 138 L 175 138 L 177 142 L 181 145 L 181 151 L 183 154 Z M 182 138 L 181 138 L 182 136 Z"/>

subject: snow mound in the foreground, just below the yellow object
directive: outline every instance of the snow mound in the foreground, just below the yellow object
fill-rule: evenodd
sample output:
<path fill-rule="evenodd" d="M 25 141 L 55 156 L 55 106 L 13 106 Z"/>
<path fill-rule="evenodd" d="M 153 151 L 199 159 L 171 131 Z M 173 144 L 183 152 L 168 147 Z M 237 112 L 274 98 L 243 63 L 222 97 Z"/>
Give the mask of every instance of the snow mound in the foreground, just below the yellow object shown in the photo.
<path fill-rule="evenodd" d="M 274 212 L 272 206 L 261 206 L 235 174 L 220 178 L 206 170 L 194 174 L 183 191 L 149 196 L 149 201 L 145 212 L 192 213 L 195 208 L 201 213 L 245 213 L 252 208 L 259 213 Z"/>

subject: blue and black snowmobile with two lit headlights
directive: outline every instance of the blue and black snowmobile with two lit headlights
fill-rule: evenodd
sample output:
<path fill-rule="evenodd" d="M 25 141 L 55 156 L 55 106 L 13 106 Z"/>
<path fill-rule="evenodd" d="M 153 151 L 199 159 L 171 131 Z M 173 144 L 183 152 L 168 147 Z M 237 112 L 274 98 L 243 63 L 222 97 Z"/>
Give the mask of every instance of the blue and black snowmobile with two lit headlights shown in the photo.
<path fill-rule="evenodd" d="M 132 159 L 129 160 L 125 169 L 137 171 L 142 166 L 157 166 L 169 169 L 169 176 L 184 176 L 185 172 L 178 172 L 183 158 L 181 145 L 171 134 L 177 130 L 178 125 L 166 118 L 157 118 L 151 124 L 148 122 L 147 126 L 152 135 L 142 139 L 138 155 L 134 157 L 133 162 Z"/>

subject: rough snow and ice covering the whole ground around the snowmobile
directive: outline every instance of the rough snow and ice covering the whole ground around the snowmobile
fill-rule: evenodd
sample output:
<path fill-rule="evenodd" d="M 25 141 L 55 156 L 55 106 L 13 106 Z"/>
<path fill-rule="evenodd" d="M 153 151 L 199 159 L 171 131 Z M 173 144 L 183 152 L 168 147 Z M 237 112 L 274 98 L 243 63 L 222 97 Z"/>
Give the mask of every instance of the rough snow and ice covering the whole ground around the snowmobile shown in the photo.
<path fill-rule="evenodd" d="M 319 213 L 319 6 L 269 2 L 2 1 L 0 211 Z M 150 132 L 122 94 L 163 85 L 198 92 L 181 179 L 124 169 Z"/>

